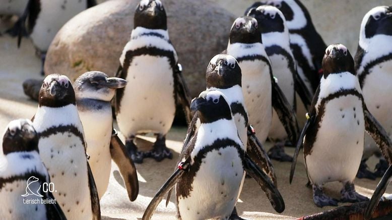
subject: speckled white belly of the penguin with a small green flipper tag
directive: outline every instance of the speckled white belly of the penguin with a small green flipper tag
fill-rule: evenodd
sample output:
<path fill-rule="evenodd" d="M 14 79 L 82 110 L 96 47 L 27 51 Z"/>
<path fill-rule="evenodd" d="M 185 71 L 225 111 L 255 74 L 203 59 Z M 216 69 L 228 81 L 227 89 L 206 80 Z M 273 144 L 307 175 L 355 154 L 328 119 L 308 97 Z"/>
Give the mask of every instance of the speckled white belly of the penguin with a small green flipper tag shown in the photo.
<path fill-rule="evenodd" d="M 270 70 L 262 61 L 243 61 L 240 67 L 249 124 L 255 129 L 258 140 L 264 143 L 272 122 Z"/>

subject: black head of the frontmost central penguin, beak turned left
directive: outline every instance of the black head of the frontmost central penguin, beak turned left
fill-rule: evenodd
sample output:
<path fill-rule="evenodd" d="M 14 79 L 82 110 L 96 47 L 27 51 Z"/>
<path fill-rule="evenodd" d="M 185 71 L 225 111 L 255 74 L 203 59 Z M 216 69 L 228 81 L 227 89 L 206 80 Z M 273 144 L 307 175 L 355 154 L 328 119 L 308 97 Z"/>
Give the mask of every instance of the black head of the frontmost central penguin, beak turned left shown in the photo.
<path fill-rule="evenodd" d="M 231 120 L 231 109 L 225 95 L 217 90 L 206 90 L 190 103 L 191 111 L 198 111 L 201 123 L 212 123 L 221 119 Z"/>

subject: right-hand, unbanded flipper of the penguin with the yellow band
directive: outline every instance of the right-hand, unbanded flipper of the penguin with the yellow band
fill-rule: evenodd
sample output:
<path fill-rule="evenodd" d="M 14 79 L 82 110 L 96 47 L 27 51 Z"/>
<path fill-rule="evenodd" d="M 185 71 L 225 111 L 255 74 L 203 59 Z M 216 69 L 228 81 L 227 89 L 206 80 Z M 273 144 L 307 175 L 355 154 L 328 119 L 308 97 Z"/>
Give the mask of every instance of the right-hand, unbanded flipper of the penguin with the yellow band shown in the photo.
<path fill-rule="evenodd" d="M 380 125 L 380 123 L 374 118 L 374 116 L 368 111 L 366 105 L 363 103 L 364 109 L 363 114 L 365 117 L 365 130 L 376 142 L 380 148 L 382 155 L 385 160 L 388 161 L 389 165 L 392 164 L 392 142 Z"/>

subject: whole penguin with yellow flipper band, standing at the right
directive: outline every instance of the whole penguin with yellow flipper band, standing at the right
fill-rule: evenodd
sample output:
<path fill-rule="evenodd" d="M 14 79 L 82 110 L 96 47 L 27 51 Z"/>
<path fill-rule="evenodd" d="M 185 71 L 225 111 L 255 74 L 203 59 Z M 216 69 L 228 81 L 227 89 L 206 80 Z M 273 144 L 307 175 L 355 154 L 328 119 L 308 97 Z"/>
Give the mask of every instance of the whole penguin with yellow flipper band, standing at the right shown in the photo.
<path fill-rule="evenodd" d="M 367 201 L 368 198 L 358 194 L 354 187 L 365 130 L 380 146 L 389 163 L 392 163 L 391 141 L 366 107 L 354 60 L 347 47 L 343 44 L 328 46 L 322 69 L 320 85 L 296 146 L 290 183 L 299 148 L 303 144 L 305 167 L 316 206 L 338 205 L 338 200 L 322 191 L 324 183 L 334 181 L 343 184 L 341 202 Z"/>

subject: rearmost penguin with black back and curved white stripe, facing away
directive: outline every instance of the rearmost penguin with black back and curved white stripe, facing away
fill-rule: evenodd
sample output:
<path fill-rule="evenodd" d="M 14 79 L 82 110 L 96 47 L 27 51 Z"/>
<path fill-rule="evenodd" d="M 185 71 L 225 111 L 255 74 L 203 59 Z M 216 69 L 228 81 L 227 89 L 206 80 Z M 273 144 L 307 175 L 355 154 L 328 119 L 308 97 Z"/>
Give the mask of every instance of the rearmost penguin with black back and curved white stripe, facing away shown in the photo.
<path fill-rule="evenodd" d="M 314 28 L 309 12 L 299 0 L 262 0 L 250 8 L 260 5 L 274 6 L 285 16 L 298 74 L 313 95 L 322 75 L 326 44 Z"/>

